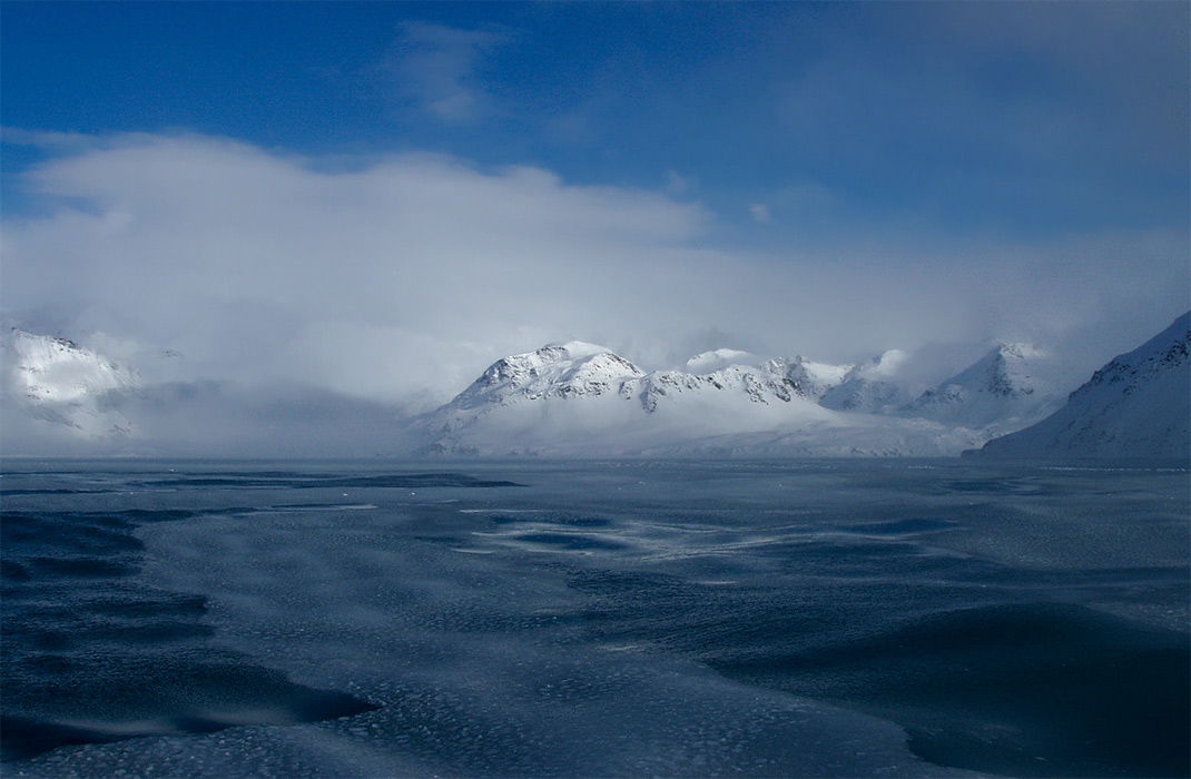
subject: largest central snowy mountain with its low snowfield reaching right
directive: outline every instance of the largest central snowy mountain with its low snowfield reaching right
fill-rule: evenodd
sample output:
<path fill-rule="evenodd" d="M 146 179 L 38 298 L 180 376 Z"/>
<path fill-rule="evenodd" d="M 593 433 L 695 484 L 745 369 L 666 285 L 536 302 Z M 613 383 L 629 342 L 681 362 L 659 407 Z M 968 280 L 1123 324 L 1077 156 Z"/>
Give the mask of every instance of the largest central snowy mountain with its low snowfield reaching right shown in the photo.
<path fill-rule="evenodd" d="M 711 362 L 700 355 L 694 364 Z M 942 455 L 983 441 L 929 420 L 819 405 L 848 372 L 797 357 L 709 373 L 646 373 L 604 347 L 554 344 L 497 361 L 426 415 L 423 451 Z"/>

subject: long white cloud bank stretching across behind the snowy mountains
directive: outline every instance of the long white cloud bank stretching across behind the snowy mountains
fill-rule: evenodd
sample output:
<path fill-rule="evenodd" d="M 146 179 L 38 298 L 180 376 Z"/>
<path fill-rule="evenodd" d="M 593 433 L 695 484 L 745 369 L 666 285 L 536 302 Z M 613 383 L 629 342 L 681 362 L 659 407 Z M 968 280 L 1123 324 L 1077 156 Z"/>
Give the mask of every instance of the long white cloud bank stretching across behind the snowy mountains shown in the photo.
<path fill-rule="evenodd" d="M 61 200 L 4 225 L 4 306 L 130 355 L 181 353 L 155 363 L 161 378 L 382 401 L 445 399 L 549 341 L 648 361 L 712 329 L 748 341 L 716 347 L 821 360 L 1011 334 L 1079 339 L 1103 362 L 1186 306 L 1179 235 L 931 245 L 858 231 L 760 255 L 711 245 L 698 204 L 537 168 L 324 168 L 200 136 L 51 157 L 25 183 Z"/>

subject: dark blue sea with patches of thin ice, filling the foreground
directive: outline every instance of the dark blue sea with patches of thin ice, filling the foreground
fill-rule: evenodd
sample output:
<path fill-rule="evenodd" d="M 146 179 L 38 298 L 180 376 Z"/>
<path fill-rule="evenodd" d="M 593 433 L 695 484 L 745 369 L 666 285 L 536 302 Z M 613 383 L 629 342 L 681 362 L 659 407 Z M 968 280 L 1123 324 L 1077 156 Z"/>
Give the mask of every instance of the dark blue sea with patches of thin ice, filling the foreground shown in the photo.
<path fill-rule="evenodd" d="M 1189 487 L 8 460 L 0 772 L 1186 777 Z"/>

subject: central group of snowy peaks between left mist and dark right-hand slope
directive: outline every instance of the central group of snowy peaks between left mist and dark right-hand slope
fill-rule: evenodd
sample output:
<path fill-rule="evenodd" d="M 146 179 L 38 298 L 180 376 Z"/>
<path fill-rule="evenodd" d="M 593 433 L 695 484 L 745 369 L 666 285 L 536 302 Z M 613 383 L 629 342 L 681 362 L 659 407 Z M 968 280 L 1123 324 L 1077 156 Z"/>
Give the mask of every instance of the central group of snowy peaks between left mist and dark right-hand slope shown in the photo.
<path fill-rule="evenodd" d="M 687 370 L 647 373 L 582 342 L 493 363 L 454 400 L 424 416 L 424 454 L 950 455 L 1053 411 L 1035 378 L 1049 356 L 998 344 L 917 397 L 887 351 L 855 366 L 784 357 L 746 364 L 721 349 Z"/>

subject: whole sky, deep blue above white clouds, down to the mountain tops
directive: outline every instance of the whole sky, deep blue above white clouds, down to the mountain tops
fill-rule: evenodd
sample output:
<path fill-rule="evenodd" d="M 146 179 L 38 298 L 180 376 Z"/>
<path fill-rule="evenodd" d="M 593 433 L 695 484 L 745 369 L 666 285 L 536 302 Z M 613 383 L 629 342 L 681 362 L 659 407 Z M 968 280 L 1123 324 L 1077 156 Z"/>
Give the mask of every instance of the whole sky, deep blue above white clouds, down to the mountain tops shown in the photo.
<path fill-rule="evenodd" d="M 255 305 L 282 312 L 303 348 L 367 330 L 394 354 L 449 354 L 460 376 L 563 337 L 646 362 L 698 345 L 842 360 L 993 337 L 1070 342 L 1093 361 L 1189 305 L 1189 14 L 1184 2 L 5 2 L 2 303 L 130 342 L 175 332 L 173 347 L 197 354 L 214 347 L 181 335 L 193 323 Z M 419 187 L 442 230 L 403 243 L 411 230 L 391 235 L 385 214 Z M 373 310 L 357 287 L 319 281 L 239 297 L 214 281 L 170 288 L 162 263 L 207 280 L 225 268 L 224 249 L 163 250 L 167 225 L 239 241 L 225 251 L 237 268 L 256 262 L 244 247 L 291 238 L 286 214 L 229 226 L 220 204 L 248 191 L 258 197 L 243 208 L 325 218 L 319 235 L 342 236 L 361 278 L 399 254 L 392 299 L 410 313 L 360 313 Z M 295 279 L 336 262 L 330 244 L 286 251 Z M 50 274 L 89 281 L 62 289 Z M 112 292 L 119 274 L 141 298 Z M 535 286 L 543 275 L 549 288 Z M 150 300 L 163 294 L 181 297 Z M 438 314 L 486 295 L 506 301 L 499 320 Z"/>

